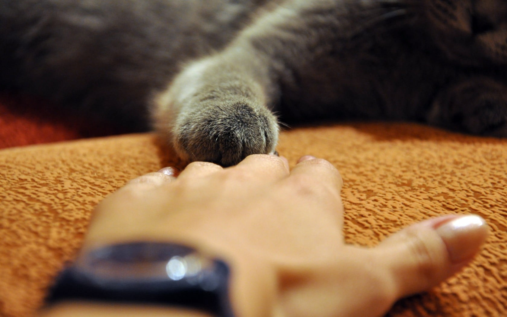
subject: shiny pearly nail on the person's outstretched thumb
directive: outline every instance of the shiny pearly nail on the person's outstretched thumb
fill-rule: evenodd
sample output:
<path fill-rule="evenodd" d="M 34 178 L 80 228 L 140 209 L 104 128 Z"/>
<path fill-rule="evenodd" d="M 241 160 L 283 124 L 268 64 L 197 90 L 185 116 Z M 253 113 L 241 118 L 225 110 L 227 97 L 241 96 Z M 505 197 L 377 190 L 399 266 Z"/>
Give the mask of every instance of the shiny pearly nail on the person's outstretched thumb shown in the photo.
<path fill-rule="evenodd" d="M 453 264 L 472 258 L 486 240 L 488 225 L 477 215 L 463 216 L 444 222 L 436 228 L 447 246 Z"/>

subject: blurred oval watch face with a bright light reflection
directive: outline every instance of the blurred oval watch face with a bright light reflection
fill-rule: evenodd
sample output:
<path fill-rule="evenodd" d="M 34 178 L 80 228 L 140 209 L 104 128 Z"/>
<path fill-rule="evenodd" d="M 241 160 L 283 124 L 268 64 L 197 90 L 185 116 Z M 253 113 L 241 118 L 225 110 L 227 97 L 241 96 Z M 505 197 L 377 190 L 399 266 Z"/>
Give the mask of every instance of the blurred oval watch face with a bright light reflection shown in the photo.
<path fill-rule="evenodd" d="M 94 279 L 123 281 L 181 280 L 199 283 L 213 261 L 182 245 L 134 242 L 105 246 L 84 254 L 76 266 Z"/>

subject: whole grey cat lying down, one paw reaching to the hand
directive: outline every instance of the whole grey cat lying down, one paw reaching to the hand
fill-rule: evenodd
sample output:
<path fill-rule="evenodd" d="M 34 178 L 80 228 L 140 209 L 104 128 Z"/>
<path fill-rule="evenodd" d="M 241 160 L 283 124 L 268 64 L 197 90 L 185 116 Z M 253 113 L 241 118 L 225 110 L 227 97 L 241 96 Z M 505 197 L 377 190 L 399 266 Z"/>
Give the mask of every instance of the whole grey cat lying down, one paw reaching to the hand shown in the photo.
<path fill-rule="evenodd" d="M 0 23 L 1 84 L 149 110 L 190 160 L 273 152 L 272 111 L 507 136 L 501 0 L 0 0 Z"/>

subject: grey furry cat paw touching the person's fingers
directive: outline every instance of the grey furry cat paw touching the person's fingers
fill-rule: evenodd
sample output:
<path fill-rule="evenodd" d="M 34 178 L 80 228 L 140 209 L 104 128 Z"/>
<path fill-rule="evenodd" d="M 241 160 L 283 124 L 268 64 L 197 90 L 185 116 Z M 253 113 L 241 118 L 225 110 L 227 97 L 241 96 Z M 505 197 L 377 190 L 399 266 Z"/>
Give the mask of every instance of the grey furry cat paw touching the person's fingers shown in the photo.
<path fill-rule="evenodd" d="M 183 159 L 222 166 L 235 165 L 250 154 L 275 153 L 277 140 L 275 116 L 244 101 L 185 111 L 173 129 L 174 148 Z"/>

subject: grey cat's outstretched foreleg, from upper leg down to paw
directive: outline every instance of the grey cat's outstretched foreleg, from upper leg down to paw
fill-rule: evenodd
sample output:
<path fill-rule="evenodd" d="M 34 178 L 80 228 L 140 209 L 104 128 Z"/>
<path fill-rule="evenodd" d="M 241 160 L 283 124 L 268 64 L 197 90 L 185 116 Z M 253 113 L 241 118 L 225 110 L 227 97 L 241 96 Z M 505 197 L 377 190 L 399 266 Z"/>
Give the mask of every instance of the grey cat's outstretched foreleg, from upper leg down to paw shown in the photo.
<path fill-rule="evenodd" d="M 156 97 L 157 129 L 188 160 L 227 166 L 274 152 L 278 123 L 272 110 L 287 87 L 298 91 L 299 79 L 314 73 L 313 51 L 335 42 L 328 36 L 342 26 L 332 19 L 343 13 L 336 7 L 330 0 L 313 10 L 311 2 L 289 0 L 266 11 L 224 51 L 191 63 Z M 315 25 L 319 32 L 312 31 Z"/>

